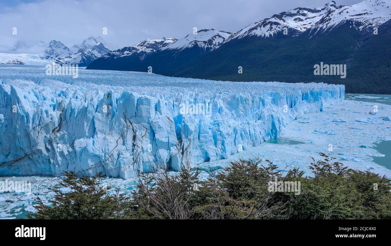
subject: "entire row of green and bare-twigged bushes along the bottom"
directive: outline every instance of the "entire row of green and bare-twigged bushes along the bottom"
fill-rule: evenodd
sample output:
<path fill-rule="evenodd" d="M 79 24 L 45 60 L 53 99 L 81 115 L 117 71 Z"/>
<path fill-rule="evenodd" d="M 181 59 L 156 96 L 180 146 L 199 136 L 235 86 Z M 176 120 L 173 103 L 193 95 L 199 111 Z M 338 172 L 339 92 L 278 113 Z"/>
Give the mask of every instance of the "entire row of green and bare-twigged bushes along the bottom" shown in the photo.
<path fill-rule="evenodd" d="M 344 167 L 321 154 L 311 176 L 280 170 L 259 158 L 231 162 L 205 181 L 200 170 L 177 174 L 162 168 L 140 174 L 133 193 L 114 194 L 94 177 L 66 178 L 53 187 L 50 206 L 38 198 L 30 219 L 390 219 L 391 185 L 386 176 Z M 281 183 L 282 182 L 282 183 Z M 295 183 L 296 182 L 296 183 Z M 296 184 L 289 192 L 282 184 Z M 60 188 L 70 188 L 63 193 Z M 292 188 L 292 187 L 290 187 Z M 297 190 L 299 189 L 299 190 Z"/>

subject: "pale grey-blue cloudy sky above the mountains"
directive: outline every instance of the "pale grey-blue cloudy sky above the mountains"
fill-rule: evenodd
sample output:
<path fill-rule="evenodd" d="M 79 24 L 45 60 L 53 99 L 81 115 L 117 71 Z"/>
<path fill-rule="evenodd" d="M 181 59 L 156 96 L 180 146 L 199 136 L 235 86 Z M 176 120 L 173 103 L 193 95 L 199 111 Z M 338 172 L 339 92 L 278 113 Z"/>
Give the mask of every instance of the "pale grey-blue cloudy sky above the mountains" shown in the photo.
<path fill-rule="evenodd" d="M 143 39 L 180 38 L 214 28 L 236 32 L 250 23 L 296 7 L 321 7 L 327 0 L 0 0 L 0 46 L 17 40 L 52 39 L 66 46 L 90 35 L 116 47 Z M 340 0 L 352 5 L 361 0 Z M 12 34 L 13 27 L 17 35 Z M 107 35 L 102 35 L 102 28 Z"/>

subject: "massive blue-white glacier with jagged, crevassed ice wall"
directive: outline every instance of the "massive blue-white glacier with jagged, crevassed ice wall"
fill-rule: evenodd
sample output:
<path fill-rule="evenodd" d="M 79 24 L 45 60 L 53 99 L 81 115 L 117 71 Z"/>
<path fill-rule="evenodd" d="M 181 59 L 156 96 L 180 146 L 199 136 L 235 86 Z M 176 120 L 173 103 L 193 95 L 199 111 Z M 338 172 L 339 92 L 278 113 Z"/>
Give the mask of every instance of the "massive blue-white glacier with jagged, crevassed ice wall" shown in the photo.
<path fill-rule="evenodd" d="M 44 68 L 0 67 L 0 175 L 72 170 L 127 179 L 154 165 L 179 170 L 280 137 L 292 120 L 344 96 L 343 85 L 325 83 L 83 69 L 73 79 L 47 76 Z"/>

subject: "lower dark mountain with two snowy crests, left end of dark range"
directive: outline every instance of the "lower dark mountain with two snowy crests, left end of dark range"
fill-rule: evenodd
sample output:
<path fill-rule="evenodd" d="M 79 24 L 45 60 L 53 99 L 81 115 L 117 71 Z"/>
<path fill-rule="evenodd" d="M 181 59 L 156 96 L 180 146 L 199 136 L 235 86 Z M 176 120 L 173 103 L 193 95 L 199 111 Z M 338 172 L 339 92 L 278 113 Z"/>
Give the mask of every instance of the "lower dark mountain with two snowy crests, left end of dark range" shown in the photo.
<path fill-rule="evenodd" d="M 93 61 L 87 69 L 146 72 L 148 67 L 152 67 L 152 72 L 161 73 L 212 50 L 231 35 L 230 32 L 203 29 L 178 40 L 147 39 L 108 53 Z"/>

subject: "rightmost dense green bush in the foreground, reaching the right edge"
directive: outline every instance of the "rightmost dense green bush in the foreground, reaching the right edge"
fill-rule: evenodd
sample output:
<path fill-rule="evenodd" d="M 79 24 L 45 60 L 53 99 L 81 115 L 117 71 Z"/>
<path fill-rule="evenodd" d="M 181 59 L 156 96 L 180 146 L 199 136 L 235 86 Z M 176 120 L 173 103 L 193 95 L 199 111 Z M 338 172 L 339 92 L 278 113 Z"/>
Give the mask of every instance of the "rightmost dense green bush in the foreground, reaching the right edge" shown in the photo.
<path fill-rule="evenodd" d="M 283 193 L 289 200 L 292 219 L 391 218 L 390 179 L 367 171 L 347 169 L 335 158 L 321 153 L 322 160 L 308 166 L 312 176 L 300 177 L 300 195 Z M 289 175 L 289 174 L 288 174 Z M 287 176 L 288 176 L 287 175 Z M 291 177 L 287 177 L 291 180 Z M 374 190 L 377 184 L 377 190 Z"/>

